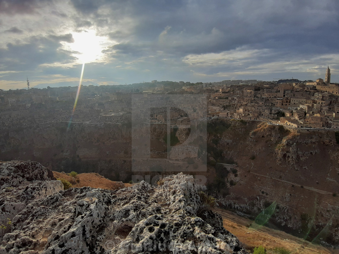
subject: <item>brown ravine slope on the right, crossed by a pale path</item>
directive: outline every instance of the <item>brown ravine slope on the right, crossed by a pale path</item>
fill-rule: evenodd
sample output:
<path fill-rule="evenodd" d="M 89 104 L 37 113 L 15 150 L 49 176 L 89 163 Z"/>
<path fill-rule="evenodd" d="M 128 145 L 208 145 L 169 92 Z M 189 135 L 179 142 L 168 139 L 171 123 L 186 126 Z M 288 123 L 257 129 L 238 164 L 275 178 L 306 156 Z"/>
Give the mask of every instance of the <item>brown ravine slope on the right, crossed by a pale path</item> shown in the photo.
<path fill-rule="evenodd" d="M 210 132 L 208 143 L 216 161 L 237 163 L 235 173 L 228 170 L 220 191 L 213 181 L 227 169 L 220 164 L 209 167 L 216 174 L 209 178 L 210 190 L 217 190 L 220 204 L 254 219 L 276 202 L 269 223 L 308 240 L 336 245 L 339 146 L 334 131 L 228 122 L 230 127 L 221 135 Z"/>

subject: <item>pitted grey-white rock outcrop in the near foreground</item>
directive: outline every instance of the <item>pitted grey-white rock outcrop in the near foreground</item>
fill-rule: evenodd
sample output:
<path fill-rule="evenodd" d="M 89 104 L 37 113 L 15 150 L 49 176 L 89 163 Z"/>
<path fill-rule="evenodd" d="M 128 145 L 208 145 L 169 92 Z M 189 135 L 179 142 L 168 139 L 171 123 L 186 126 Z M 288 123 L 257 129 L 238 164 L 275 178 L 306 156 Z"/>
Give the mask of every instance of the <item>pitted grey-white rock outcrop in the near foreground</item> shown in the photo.
<path fill-rule="evenodd" d="M 2 163 L 1 168 L 13 163 L 23 169 L 31 162 Z M 36 172 L 33 166 L 30 170 Z M 46 173 L 37 175 L 51 173 L 42 170 Z M 15 179 L 15 173 L 5 176 Z M 44 181 L 47 186 L 53 182 L 61 184 Z M 6 187 L 12 202 L 20 202 L 10 192 L 17 187 Z M 18 209 L 1 254 L 246 253 L 223 228 L 221 216 L 200 201 L 194 178 L 182 173 L 156 187 L 141 182 L 115 191 L 83 187 L 49 194 Z"/>

